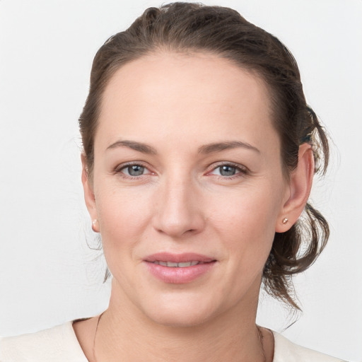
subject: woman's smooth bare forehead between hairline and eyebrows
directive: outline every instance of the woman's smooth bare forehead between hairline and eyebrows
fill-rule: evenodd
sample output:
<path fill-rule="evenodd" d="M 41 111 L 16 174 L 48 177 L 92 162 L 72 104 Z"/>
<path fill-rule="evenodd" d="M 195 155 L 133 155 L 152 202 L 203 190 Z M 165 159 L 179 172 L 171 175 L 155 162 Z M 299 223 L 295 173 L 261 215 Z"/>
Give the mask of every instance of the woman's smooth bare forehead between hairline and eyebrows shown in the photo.
<path fill-rule="evenodd" d="M 235 135 L 252 143 L 260 132 L 275 133 L 269 105 L 264 81 L 228 59 L 160 52 L 115 72 L 103 95 L 98 132 L 101 141 L 177 141 L 198 134 L 201 143 Z"/>

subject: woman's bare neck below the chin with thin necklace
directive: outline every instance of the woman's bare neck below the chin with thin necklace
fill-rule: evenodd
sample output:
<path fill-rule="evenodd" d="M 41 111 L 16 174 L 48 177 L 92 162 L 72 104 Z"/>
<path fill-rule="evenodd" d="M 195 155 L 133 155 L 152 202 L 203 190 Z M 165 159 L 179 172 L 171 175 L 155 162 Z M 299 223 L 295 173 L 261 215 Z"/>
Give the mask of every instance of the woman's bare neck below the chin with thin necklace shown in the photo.
<path fill-rule="evenodd" d="M 149 320 L 114 290 L 95 335 L 96 362 L 119 361 L 119 356 L 149 362 L 266 361 L 255 303 L 230 308 L 197 326 L 179 327 Z"/>

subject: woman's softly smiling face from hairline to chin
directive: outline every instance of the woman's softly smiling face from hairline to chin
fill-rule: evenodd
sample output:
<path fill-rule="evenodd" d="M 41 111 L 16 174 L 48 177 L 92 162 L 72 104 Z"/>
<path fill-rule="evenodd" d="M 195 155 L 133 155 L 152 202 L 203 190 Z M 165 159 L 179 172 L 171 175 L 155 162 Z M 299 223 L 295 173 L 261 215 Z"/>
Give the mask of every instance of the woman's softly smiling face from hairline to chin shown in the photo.
<path fill-rule="evenodd" d="M 270 114 L 263 81 L 211 54 L 112 76 L 85 181 L 111 304 L 165 325 L 256 308 L 289 195 Z"/>

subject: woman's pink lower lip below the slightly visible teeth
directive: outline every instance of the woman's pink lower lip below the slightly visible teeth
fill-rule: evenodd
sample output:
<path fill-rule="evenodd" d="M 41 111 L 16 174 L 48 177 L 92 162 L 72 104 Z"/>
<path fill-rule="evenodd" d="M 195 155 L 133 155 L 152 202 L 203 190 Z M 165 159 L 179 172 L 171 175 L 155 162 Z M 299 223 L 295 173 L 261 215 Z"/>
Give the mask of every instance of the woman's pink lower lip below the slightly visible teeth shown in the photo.
<path fill-rule="evenodd" d="M 206 274 L 216 262 L 193 265 L 192 267 L 164 267 L 163 265 L 146 262 L 148 271 L 165 283 L 185 284 Z"/>

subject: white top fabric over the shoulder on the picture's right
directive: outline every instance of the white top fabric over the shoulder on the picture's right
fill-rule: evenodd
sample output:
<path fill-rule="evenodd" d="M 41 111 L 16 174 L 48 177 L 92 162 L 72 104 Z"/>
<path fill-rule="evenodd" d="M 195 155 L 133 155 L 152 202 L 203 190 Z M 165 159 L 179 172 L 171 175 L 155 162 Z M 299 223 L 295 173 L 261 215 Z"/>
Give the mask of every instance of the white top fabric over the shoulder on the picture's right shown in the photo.
<path fill-rule="evenodd" d="M 273 362 L 346 362 L 320 352 L 298 346 L 277 332 L 274 334 Z"/>

